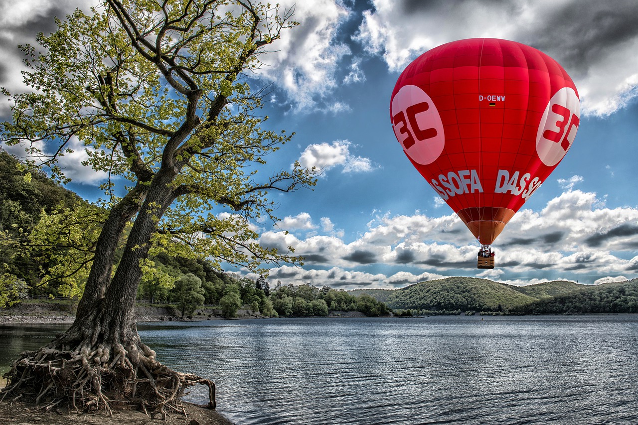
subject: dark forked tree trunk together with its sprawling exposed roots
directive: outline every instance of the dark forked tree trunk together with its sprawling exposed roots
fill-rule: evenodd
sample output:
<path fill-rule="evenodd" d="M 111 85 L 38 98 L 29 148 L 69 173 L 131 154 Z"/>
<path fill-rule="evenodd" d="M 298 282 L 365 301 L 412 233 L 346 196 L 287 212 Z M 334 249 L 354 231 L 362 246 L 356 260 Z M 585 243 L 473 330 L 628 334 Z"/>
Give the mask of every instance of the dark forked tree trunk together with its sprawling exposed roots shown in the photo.
<path fill-rule="evenodd" d="M 3 398 L 20 392 L 20 396 L 33 398 L 36 403 L 66 399 L 76 410 L 80 405 L 109 412 L 110 405 L 128 403 L 144 411 L 151 407 L 164 416 L 165 407 L 178 403 L 189 385 L 204 384 L 209 387 L 209 407 L 214 408 L 214 384 L 156 361 L 155 352 L 142 343 L 135 324 L 135 299 L 142 277 L 140 260 L 147 257 L 158 219 L 175 198 L 168 188 L 173 176 L 160 171 L 153 179 L 110 284 L 103 288 L 100 283 L 110 276 L 106 264 L 113 257 L 108 251 L 101 254 L 105 258 L 98 266 L 94 265 L 100 269 L 92 283 L 97 292 L 89 295 L 82 309 L 78 308 L 68 331 L 38 351 L 22 353 L 13 362 L 4 375 L 9 383 L 2 391 Z M 114 247 L 118 225 L 125 223 L 123 219 L 132 211 L 127 205 L 129 209 L 122 207 L 119 214 L 109 216 L 107 221 L 113 216 L 107 227 L 112 241 L 105 240 L 103 246 Z"/>

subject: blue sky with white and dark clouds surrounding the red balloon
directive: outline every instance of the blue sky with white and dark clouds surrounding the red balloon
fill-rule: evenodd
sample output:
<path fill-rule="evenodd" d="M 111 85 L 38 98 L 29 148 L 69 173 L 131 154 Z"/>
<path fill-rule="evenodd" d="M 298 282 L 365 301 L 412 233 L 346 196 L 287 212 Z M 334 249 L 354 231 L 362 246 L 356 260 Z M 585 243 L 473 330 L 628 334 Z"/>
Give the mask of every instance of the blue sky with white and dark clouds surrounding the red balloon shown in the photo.
<path fill-rule="evenodd" d="M 24 90 L 17 44 L 34 43 L 36 33 L 54 31 L 54 16 L 91 4 L 0 0 L 0 86 Z M 448 276 L 591 285 L 638 276 L 638 2 L 304 0 L 295 20 L 300 26 L 263 58 L 258 76 L 271 84 L 269 128 L 296 133 L 271 165 L 289 170 L 298 160 L 323 173 L 314 190 L 274 195 L 281 222 L 263 223 L 260 242 L 293 246 L 306 260 L 273 267 L 271 285 L 400 288 Z M 389 116 L 406 65 L 475 37 L 549 54 L 581 98 L 574 144 L 494 242 L 493 270 L 475 268 L 479 242 L 406 159 Z M 8 117 L 0 99 L 0 118 Z M 62 165 L 73 178 L 68 187 L 94 200 L 105 176 L 80 167 L 83 154 Z"/>

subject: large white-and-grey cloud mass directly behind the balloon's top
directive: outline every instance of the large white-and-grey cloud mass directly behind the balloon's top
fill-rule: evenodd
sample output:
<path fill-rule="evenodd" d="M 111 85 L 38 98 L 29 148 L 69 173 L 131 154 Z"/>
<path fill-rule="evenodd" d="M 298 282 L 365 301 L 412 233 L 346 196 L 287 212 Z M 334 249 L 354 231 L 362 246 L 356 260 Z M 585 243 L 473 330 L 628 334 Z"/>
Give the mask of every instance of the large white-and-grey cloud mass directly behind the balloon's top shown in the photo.
<path fill-rule="evenodd" d="M 607 115 L 638 95 L 638 3 L 577 0 L 415 2 L 373 0 L 356 40 L 401 71 L 449 41 L 520 41 L 554 57 L 578 87 L 584 114 Z"/>

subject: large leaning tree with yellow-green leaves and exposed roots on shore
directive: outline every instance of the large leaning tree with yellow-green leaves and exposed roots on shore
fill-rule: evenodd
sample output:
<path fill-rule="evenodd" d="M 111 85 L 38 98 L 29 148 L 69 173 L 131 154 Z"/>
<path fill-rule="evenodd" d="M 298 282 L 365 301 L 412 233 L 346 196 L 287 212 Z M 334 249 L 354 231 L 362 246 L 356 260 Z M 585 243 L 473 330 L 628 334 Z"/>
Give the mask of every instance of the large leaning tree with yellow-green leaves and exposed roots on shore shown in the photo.
<path fill-rule="evenodd" d="M 142 343 L 135 296 L 152 267 L 149 253 L 162 250 L 255 270 L 299 260 L 292 248 L 256 243 L 251 223 L 276 220 L 272 191 L 315 184 L 314 170 L 299 165 L 256 176 L 291 136 L 262 127 L 265 93 L 251 90 L 249 77 L 281 31 L 296 25 L 291 18 L 250 0 L 105 0 L 90 14 L 56 20 L 37 48 L 22 47 L 33 90 L 3 89 L 13 100 L 3 140 L 27 143 L 59 179 L 57 158 L 81 142 L 86 165 L 110 176 L 110 211 L 75 322 L 13 363 L 4 396 L 107 410 L 124 400 L 164 412 L 201 383 L 213 403 L 211 381 L 163 366 Z"/>

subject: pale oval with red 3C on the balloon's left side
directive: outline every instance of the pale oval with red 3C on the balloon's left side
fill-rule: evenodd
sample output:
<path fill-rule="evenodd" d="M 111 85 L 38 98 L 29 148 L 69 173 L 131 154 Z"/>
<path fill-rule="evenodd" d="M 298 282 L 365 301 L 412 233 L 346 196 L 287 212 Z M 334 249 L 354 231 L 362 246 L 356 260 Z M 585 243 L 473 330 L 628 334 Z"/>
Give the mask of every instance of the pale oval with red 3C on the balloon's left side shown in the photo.
<path fill-rule="evenodd" d="M 443 152 L 445 135 L 434 102 L 418 86 L 403 86 L 390 105 L 392 130 L 405 153 L 416 163 L 433 163 Z"/>

